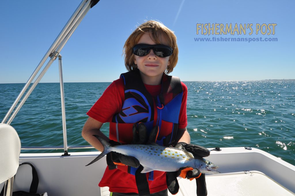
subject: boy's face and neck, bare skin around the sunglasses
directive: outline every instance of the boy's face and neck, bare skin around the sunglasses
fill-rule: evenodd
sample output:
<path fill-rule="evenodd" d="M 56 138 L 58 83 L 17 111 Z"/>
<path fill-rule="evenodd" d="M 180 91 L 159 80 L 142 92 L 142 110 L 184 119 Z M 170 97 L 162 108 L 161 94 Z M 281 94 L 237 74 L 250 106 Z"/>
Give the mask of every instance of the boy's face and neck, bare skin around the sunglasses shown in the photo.
<path fill-rule="evenodd" d="M 159 37 L 161 44 L 168 45 L 164 36 Z M 149 33 L 144 33 L 137 44 L 156 45 Z M 140 76 L 144 84 L 158 85 L 161 83 L 163 72 L 170 65 L 170 56 L 158 57 L 154 54 L 153 49 L 145 56 L 134 55 L 134 63 L 140 71 Z"/>

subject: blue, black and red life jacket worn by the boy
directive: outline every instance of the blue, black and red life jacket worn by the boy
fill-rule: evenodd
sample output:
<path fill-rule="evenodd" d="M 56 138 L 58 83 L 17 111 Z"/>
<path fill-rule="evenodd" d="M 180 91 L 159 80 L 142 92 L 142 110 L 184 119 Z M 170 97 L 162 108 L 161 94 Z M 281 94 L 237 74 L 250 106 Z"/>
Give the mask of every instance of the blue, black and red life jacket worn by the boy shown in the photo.
<path fill-rule="evenodd" d="M 175 140 L 178 129 L 178 118 L 181 107 L 183 89 L 180 79 L 175 76 L 162 76 L 162 90 L 157 97 L 146 90 L 139 70 L 121 74 L 124 79 L 124 103 L 122 110 L 115 114 L 109 125 L 111 140 L 128 144 L 132 141 L 132 126 L 143 122 L 148 135 L 153 127 L 159 126 L 156 143 L 169 146 Z M 117 166 L 118 169 L 135 175 L 137 168 Z M 153 180 L 150 172 L 148 180 Z"/>

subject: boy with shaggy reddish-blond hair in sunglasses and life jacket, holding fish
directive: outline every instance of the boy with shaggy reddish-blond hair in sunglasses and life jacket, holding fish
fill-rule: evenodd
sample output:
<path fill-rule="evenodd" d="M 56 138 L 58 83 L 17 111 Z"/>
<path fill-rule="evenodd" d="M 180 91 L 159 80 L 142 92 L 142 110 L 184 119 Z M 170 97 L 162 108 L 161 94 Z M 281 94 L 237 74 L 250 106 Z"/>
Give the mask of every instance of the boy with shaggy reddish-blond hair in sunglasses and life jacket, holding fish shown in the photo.
<path fill-rule="evenodd" d="M 126 40 L 124 54 L 129 72 L 121 74 L 120 79 L 110 84 L 87 112 L 89 118 L 82 130 L 83 138 L 103 151 L 101 143 L 92 135 L 129 144 L 136 132 L 134 130 L 146 129 L 149 135 L 156 128 L 159 145 L 189 144 L 190 136 L 186 130 L 187 87 L 177 77 L 167 75 L 173 71 L 178 60 L 174 33 L 160 22 L 147 21 Z M 110 122 L 109 138 L 99 130 L 104 122 Z M 122 155 L 112 154 L 111 162 L 116 159 L 114 156 Z M 107 159 L 110 160 L 110 157 Z M 169 180 L 166 182 L 166 172 L 152 171 L 145 174 L 146 180 L 141 178 L 139 182 L 139 177 L 134 175 L 136 168 L 122 163 L 114 166 L 108 162 L 108 165 L 99 186 L 108 186 L 113 196 L 138 195 L 141 190 L 139 184 L 145 183 L 141 180 L 148 181 L 151 195 L 167 195 Z"/>

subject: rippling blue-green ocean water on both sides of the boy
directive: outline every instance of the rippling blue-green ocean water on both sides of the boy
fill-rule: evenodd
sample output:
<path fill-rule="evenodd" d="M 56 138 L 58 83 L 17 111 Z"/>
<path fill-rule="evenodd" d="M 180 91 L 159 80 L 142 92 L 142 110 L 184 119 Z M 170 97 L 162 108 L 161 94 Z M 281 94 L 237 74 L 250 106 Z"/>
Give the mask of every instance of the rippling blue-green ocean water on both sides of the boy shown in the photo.
<path fill-rule="evenodd" d="M 250 146 L 295 165 L 294 80 L 184 83 L 191 143 L 207 148 Z M 86 112 L 109 84 L 64 84 L 68 146 L 88 145 L 81 137 Z M 23 86 L 0 84 L 1 120 Z M 38 84 L 11 125 L 22 146 L 63 146 L 59 83 Z M 101 130 L 108 135 L 108 123 Z M 82 150 L 69 150 L 73 151 Z M 26 152 L 40 151 L 22 151 Z"/>

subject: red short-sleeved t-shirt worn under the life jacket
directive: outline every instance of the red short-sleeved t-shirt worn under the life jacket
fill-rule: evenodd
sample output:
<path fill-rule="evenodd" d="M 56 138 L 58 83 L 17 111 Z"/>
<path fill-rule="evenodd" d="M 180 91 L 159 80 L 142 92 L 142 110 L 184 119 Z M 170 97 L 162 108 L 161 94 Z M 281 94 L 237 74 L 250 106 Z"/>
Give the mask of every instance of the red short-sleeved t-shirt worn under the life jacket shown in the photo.
<path fill-rule="evenodd" d="M 181 82 L 183 89 L 183 96 L 181 101 L 181 108 L 179 113 L 178 128 L 186 128 L 187 117 L 186 117 L 186 99 L 187 99 L 187 87 Z M 161 92 L 160 85 L 147 85 L 145 88 L 153 96 L 156 97 Z M 87 112 L 91 118 L 98 120 L 100 122 L 112 122 L 112 117 L 114 114 L 118 113 L 123 106 L 124 102 L 124 80 L 117 79 L 108 86 L 101 97 L 96 101 L 96 103 Z M 154 171 L 163 173 L 162 171 Z M 155 175 L 158 176 L 158 175 Z M 167 189 L 166 185 L 166 175 L 163 173 L 158 178 L 153 181 L 149 181 L 150 193 L 155 193 Z M 110 192 L 135 192 L 138 193 L 135 176 L 128 174 L 119 169 L 109 170 L 106 167 L 104 176 L 99 182 L 100 187 L 109 187 Z"/>

